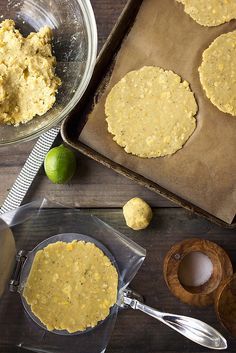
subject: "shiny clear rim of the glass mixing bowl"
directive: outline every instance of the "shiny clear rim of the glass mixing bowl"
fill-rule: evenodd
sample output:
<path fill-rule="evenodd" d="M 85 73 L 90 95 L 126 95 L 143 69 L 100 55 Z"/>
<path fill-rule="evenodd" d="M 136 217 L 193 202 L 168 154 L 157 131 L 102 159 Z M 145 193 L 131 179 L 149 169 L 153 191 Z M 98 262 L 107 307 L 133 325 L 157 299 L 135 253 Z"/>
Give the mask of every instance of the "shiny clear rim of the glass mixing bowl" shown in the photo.
<path fill-rule="evenodd" d="M 88 54 L 87 54 L 85 71 L 81 79 L 81 82 L 74 93 L 73 98 L 63 108 L 60 114 L 58 114 L 57 118 L 55 118 L 53 121 L 48 123 L 46 126 L 39 128 L 34 133 L 29 133 L 19 138 L 17 137 L 11 140 L 9 139 L 8 141 L 0 140 L 0 147 L 31 141 L 33 139 L 36 139 L 40 135 L 42 135 L 44 132 L 50 130 L 51 128 L 56 127 L 62 122 L 62 120 L 64 120 L 69 115 L 69 113 L 75 108 L 75 106 L 78 104 L 79 100 L 83 96 L 91 80 L 95 63 L 96 63 L 97 48 L 98 48 L 98 34 L 97 34 L 97 24 L 95 20 L 95 15 L 94 15 L 94 11 L 90 3 L 90 0 L 77 0 L 77 3 L 80 6 L 80 9 L 83 15 L 83 20 L 85 22 L 85 27 L 87 30 L 86 34 L 87 34 L 89 45 L 88 45 Z"/>

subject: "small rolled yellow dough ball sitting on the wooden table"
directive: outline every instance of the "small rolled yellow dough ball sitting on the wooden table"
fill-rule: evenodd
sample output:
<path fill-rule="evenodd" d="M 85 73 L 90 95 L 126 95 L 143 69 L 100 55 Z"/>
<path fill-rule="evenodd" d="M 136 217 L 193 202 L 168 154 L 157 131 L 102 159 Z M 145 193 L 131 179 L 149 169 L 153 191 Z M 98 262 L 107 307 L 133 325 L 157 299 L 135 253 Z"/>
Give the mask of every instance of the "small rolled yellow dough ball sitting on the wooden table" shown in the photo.
<path fill-rule="evenodd" d="M 152 219 L 151 207 L 139 197 L 134 197 L 124 205 L 123 214 L 127 226 L 134 230 L 147 228 Z"/>

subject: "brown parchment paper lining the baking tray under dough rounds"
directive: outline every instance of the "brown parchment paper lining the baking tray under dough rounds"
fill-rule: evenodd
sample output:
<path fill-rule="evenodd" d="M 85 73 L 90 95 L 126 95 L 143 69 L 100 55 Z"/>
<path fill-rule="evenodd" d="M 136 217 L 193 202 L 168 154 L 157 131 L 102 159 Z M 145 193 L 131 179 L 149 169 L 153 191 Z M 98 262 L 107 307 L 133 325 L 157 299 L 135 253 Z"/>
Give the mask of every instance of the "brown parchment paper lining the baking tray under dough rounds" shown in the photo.
<path fill-rule="evenodd" d="M 202 27 L 175 0 L 144 0 L 118 53 L 111 80 L 85 125 L 80 141 L 107 158 L 231 223 L 236 210 L 236 117 L 220 112 L 199 81 L 202 52 L 236 21 Z M 104 103 L 112 86 L 144 65 L 173 70 L 190 82 L 199 111 L 197 129 L 172 156 L 143 159 L 124 152 L 107 132 Z"/>

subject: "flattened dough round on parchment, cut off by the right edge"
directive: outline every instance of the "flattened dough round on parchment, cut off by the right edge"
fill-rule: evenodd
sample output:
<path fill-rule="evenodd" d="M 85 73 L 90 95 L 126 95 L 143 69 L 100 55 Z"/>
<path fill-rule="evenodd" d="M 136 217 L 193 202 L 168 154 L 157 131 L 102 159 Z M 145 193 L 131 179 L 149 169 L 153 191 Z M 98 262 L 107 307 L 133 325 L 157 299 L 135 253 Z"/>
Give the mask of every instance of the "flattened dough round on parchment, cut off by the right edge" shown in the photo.
<path fill-rule="evenodd" d="M 236 116 L 236 31 L 222 34 L 203 52 L 198 69 L 210 101 Z"/>

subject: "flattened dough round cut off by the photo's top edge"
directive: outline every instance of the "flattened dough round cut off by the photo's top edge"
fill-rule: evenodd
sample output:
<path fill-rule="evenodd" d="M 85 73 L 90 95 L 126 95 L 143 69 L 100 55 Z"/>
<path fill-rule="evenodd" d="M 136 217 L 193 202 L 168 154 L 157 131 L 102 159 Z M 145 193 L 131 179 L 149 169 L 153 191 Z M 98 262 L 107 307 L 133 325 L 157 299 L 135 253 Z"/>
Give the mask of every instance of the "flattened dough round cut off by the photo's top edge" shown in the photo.
<path fill-rule="evenodd" d="M 236 18 L 235 0 L 177 0 L 184 11 L 202 26 L 218 26 Z"/>

